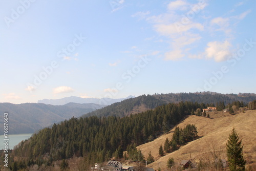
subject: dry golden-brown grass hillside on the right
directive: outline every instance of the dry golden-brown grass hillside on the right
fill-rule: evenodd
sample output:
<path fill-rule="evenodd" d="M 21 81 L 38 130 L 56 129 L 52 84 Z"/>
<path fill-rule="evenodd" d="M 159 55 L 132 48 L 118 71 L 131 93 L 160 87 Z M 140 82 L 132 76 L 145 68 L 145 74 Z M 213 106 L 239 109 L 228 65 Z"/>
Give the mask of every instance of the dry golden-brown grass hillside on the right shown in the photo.
<path fill-rule="evenodd" d="M 246 111 L 237 115 L 223 114 L 222 112 L 209 113 L 212 115 L 212 119 L 205 117 L 198 117 L 195 115 L 188 116 L 185 120 L 179 123 L 177 126 L 183 128 L 186 124 L 195 124 L 198 129 L 199 138 L 181 146 L 177 151 L 166 154 L 160 157 L 158 149 L 160 144 L 164 145 L 165 139 L 172 139 L 175 127 L 168 133 L 155 139 L 152 142 L 140 145 L 137 148 L 140 149 L 147 158 L 148 152 L 152 152 L 155 158 L 155 162 L 148 165 L 157 170 L 159 167 L 162 170 L 166 170 L 166 162 L 169 157 L 173 157 L 176 164 L 179 164 L 181 160 L 193 159 L 199 161 L 200 158 L 207 156 L 209 144 L 214 145 L 218 152 L 221 154 L 222 159 L 226 157 L 226 142 L 228 135 L 232 130 L 232 127 L 236 129 L 240 138 L 243 138 L 244 144 L 244 157 L 249 164 L 256 163 L 256 111 Z"/>

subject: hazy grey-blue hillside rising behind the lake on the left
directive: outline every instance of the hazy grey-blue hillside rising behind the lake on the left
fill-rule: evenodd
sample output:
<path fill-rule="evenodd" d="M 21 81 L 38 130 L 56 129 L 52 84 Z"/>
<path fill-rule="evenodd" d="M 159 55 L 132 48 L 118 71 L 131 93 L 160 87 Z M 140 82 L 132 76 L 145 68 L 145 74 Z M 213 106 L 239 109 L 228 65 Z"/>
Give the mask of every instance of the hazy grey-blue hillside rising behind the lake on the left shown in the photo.
<path fill-rule="evenodd" d="M 28 134 L 73 116 L 80 117 L 104 106 L 93 103 L 68 103 L 56 106 L 43 103 L 0 103 L 0 112 L 9 113 L 9 134 Z M 3 118 L 0 121 L 3 123 Z M 4 130 L 0 133 L 3 135 Z"/>

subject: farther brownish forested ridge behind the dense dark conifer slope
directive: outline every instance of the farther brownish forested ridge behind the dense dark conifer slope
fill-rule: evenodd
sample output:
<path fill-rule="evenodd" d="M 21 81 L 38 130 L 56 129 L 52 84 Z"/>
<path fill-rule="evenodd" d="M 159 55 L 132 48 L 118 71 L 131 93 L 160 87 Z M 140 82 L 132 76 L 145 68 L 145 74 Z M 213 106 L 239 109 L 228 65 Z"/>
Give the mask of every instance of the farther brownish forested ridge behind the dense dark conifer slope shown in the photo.
<path fill-rule="evenodd" d="M 224 105 L 232 103 L 233 101 L 240 101 L 248 103 L 249 101 L 256 100 L 255 94 L 220 94 L 220 93 L 169 93 L 169 94 L 154 94 L 154 95 L 141 95 L 136 98 L 130 98 L 121 102 L 114 103 L 106 106 L 105 108 L 90 112 L 83 117 L 88 116 L 119 116 L 124 117 L 130 114 L 144 112 L 149 109 L 154 109 L 156 106 L 168 103 L 178 103 L 180 101 L 191 101 L 197 103 L 205 103 L 207 106 L 217 106 L 219 102 Z"/>

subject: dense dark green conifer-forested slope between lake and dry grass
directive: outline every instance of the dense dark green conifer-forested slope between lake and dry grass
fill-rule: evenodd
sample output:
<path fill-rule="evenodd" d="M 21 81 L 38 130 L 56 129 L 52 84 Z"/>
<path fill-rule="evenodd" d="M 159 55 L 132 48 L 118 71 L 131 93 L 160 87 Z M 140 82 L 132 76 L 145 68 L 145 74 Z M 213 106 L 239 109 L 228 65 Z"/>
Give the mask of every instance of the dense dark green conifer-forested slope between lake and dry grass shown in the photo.
<path fill-rule="evenodd" d="M 169 131 L 171 126 L 197 108 L 199 106 L 192 102 L 180 102 L 123 118 L 71 118 L 20 143 L 11 156 L 24 160 L 26 165 L 51 165 L 55 160 L 73 156 L 88 157 L 91 163 L 103 162 L 112 156 L 119 158 L 128 145 L 152 141 L 157 134 Z"/>

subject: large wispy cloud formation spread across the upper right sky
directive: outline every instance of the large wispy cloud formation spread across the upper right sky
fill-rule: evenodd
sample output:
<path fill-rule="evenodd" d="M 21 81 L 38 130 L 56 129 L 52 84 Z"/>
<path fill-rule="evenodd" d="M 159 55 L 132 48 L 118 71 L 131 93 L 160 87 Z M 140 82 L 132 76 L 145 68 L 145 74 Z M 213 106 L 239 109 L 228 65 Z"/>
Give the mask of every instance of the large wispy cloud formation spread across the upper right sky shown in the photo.
<path fill-rule="evenodd" d="M 242 5 L 240 2 L 236 6 Z M 153 29 L 163 36 L 163 42 L 169 44 L 169 49 L 164 52 L 164 60 L 182 60 L 184 57 L 213 59 L 216 62 L 224 61 L 233 51 L 232 39 L 236 37 L 234 27 L 244 19 L 251 10 L 239 15 L 230 16 L 205 16 L 207 1 L 199 1 L 191 4 L 187 1 L 177 0 L 166 5 L 166 11 L 151 15 L 146 13 L 145 20 L 152 24 Z M 203 12 L 202 12 L 203 11 Z M 139 16 L 143 12 L 137 12 L 133 16 Z M 203 18 L 204 20 L 198 19 Z M 210 39 L 205 39 L 208 34 Z M 218 36 L 216 36 L 218 35 Z M 223 38 L 220 38 L 223 37 Z M 193 48 L 206 41 L 205 48 L 197 54 L 191 53 Z"/>

